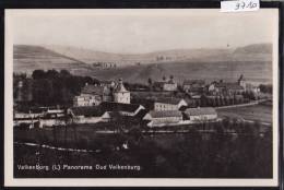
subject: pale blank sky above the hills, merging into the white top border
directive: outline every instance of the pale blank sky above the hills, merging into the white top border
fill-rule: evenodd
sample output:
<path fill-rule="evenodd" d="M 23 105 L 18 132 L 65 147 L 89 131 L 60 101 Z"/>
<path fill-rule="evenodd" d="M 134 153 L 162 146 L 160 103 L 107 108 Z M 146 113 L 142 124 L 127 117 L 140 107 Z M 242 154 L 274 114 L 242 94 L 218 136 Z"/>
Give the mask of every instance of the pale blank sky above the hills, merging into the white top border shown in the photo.
<path fill-rule="evenodd" d="M 276 10 L 10 10 L 13 44 L 143 54 L 272 43 Z"/>

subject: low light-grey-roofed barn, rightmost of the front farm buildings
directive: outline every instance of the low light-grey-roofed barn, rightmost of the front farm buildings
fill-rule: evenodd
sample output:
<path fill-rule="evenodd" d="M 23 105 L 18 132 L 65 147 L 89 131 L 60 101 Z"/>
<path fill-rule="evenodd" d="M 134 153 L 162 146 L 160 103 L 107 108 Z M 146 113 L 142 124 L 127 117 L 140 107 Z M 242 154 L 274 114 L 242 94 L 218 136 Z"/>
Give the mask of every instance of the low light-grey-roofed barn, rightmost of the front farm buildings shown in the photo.
<path fill-rule="evenodd" d="M 217 112 L 212 107 L 188 108 L 184 111 L 186 120 L 209 121 L 217 119 Z"/>

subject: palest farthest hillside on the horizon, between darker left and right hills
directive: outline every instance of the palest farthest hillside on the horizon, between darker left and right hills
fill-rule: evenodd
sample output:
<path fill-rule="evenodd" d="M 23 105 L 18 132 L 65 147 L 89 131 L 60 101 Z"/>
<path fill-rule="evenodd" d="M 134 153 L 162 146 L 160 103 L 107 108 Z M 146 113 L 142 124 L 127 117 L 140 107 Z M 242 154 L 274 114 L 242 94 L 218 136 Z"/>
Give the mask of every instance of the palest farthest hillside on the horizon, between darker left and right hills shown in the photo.
<path fill-rule="evenodd" d="M 149 64 L 188 60 L 194 61 L 200 58 L 202 58 L 203 61 L 210 61 L 212 57 L 220 59 L 232 52 L 232 50 L 225 49 L 173 49 L 141 55 L 121 55 L 64 46 L 47 46 L 46 48 L 60 55 L 76 58 L 85 63 L 91 64 L 99 61 L 116 62 L 119 67 L 135 66 L 138 62 L 140 64 Z"/>

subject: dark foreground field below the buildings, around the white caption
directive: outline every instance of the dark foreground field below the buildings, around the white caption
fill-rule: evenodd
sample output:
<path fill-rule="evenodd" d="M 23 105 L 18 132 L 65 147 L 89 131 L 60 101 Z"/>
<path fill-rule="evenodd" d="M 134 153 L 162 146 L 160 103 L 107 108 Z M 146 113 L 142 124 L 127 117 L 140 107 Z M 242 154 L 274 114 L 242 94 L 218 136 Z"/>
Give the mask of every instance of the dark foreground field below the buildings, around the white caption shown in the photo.
<path fill-rule="evenodd" d="M 126 136 L 94 136 L 95 152 L 72 152 L 44 146 L 14 144 L 16 178 L 270 178 L 272 177 L 271 133 L 224 135 L 211 133 L 146 135 L 128 139 L 128 149 L 117 149 Z M 88 146 L 88 147 L 90 147 Z M 84 147 L 87 147 L 84 145 Z M 115 147 L 115 149 L 114 149 Z M 49 169 L 19 169 L 40 165 Z M 54 165 L 61 166 L 52 170 Z M 90 166 L 93 169 L 62 169 Z M 107 166 L 97 169 L 97 165 Z M 110 169 L 109 165 L 139 169 Z"/>

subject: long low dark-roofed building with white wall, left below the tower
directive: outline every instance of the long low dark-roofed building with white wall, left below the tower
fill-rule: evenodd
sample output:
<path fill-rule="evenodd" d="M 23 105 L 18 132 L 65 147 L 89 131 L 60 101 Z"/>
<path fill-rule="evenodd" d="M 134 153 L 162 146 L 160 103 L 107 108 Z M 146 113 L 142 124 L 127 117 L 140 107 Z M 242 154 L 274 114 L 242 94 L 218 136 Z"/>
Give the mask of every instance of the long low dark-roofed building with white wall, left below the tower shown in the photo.
<path fill-rule="evenodd" d="M 110 120 L 109 112 L 99 106 L 72 107 L 69 109 L 74 123 L 96 123 Z"/>

